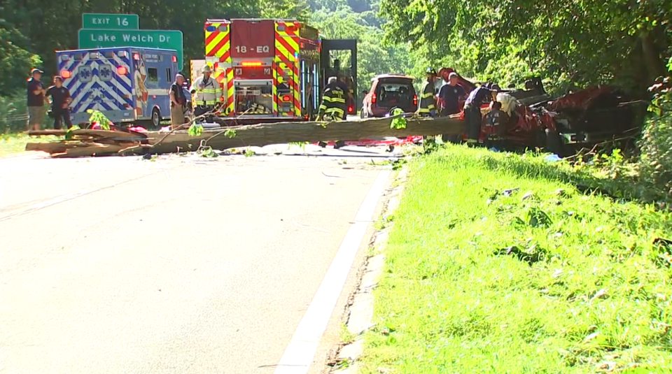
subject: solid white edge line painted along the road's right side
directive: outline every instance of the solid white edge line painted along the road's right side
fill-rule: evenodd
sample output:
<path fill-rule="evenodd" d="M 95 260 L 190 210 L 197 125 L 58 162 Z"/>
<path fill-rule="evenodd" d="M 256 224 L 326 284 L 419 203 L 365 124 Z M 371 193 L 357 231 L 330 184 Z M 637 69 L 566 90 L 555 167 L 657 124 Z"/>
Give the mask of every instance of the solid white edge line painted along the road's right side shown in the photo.
<path fill-rule="evenodd" d="M 346 233 L 320 288 L 318 288 L 313 301 L 311 301 L 306 314 L 301 319 L 292 340 L 276 366 L 275 374 L 305 374 L 308 372 L 320 343 L 320 338 L 327 328 L 331 313 L 336 306 L 359 245 L 366 233 L 369 225 L 367 221 L 372 219 L 378 199 L 385 188 L 390 173 L 388 170 L 381 171 L 373 182 L 369 193 L 357 212 L 355 222 Z"/>

